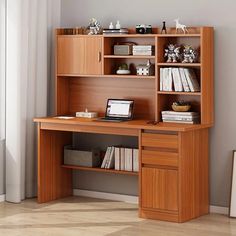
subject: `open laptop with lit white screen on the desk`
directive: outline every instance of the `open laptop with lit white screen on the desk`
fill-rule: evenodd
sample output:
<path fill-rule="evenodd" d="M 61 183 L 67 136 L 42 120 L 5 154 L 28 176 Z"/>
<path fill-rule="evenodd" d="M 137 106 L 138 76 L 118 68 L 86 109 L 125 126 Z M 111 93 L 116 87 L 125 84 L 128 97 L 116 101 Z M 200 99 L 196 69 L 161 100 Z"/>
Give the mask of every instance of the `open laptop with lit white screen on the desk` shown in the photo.
<path fill-rule="evenodd" d="M 98 121 L 121 122 L 133 119 L 134 100 L 108 99 L 105 117 Z"/>

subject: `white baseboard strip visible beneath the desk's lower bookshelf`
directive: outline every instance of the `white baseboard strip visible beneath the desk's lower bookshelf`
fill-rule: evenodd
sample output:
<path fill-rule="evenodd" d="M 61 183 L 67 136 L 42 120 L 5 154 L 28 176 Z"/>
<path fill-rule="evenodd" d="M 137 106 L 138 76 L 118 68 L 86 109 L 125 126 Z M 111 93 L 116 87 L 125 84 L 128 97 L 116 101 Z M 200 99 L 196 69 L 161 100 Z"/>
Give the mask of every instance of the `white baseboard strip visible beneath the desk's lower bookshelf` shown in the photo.
<path fill-rule="evenodd" d="M 74 196 L 83 196 L 83 197 L 92 197 L 92 198 L 101 198 L 106 200 L 120 201 L 120 202 L 129 202 L 129 203 L 138 203 L 138 197 L 124 195 L 124 194 L 116 194 L 116 193 L 104 193 L 104 192 L 96 192 L 82 189 L 73 189 Z"/>

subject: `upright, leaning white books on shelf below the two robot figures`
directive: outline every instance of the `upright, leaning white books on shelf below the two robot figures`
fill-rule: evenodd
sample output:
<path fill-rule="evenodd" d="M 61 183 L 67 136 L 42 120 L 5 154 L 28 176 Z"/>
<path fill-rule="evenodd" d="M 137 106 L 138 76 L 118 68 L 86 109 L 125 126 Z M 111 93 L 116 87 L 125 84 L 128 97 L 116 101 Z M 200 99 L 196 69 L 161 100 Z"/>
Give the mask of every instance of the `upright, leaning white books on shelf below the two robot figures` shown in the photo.
<path fill-rule="evenodd" d="M 160 68 L 160 91 L 199 92 L 200 85 L 191 68 Z"/>

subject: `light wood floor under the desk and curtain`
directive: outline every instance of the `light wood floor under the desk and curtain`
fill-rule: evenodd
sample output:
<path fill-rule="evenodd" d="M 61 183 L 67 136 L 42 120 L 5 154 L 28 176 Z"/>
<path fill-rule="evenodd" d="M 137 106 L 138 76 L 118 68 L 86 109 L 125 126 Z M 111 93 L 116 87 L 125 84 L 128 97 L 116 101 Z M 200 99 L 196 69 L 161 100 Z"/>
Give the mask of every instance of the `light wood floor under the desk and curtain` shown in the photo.
<path fill-rule="evenodd" d="M 50 204 L 35 199 L 0 204 L 0 235 L 34 236 L 225 236 L 236 235 L 236 219 L 211 214 L 184 224 L 137 217 L 137 205 L 71 197 Z"/>

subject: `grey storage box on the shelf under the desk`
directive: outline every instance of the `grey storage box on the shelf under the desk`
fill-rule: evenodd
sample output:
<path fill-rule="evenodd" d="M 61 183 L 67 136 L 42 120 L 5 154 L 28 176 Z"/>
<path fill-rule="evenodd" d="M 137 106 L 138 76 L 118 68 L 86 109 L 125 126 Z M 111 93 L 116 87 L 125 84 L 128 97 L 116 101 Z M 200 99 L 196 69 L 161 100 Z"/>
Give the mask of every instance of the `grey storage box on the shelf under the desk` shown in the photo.
<path fill-rule="evenodd" d="M 100 150 L 92 151 L 75 150 L 71 145 L 64 147 L 64 164 L 84 167 L 100 167 Z"/>

